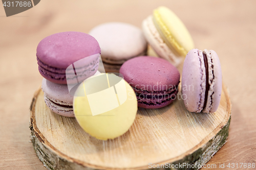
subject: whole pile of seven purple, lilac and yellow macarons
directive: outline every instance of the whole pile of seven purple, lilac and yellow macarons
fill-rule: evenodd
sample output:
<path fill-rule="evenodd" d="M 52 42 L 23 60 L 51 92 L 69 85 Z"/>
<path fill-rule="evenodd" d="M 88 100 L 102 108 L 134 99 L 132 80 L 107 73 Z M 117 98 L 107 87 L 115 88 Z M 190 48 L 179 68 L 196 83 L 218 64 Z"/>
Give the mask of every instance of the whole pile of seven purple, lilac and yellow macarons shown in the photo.
<path fill-rule="evenodd" d="M 182 21 L 166 7 L 155 9 L 153 15 L 143 20 L 142 31 L 127 23 L 109 22 L 93 28 L 89 34 L 50 35 L 40 41 L 36 56 L 39 72 L 44 77 L 42 91 L 46 105 L 59 115 L 76 115 L 80 126 L 98 139 L 112 139 L 125 133 L 134 122 L 137 107 L 157 109 L 171 104 L 180 83 L 176 66 L 183 61 L 181 89 L 186 109 L 215 112 L 221 99 L 218 55 L 212 50 L 195 49 Z M 98 69 L 120 72 L 125 81 L 108 73 L 93 77 L 98 82 L 88 79 L 99 74 Z M 89 89 L 90 96 L 85 89 Z M 104 90 L 112 92 L 114 109 L 110 109 L 110 100 L 105 102 L 102 96 L 99 99 L 91 95 L 97 92 L 103 95 Z M 125 101 L 129 90 L 132 99 Z M 74 98 L 74 94 L 79 96 Z M 99 114 L 107 116 L 94 116 L 91 101 L 97 111 L 105 107 L 107 111 Z M 102 106 L 97 105 L 99 101 Z"/>

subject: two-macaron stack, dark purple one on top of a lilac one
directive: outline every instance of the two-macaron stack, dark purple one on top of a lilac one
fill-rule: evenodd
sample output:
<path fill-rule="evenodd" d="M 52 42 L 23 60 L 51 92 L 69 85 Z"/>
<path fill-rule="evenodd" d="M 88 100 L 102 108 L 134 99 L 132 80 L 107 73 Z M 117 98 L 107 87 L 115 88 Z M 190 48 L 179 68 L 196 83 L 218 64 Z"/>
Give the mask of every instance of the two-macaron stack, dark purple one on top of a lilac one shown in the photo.
<path fill-rule="evenodd" d="M 46 105 L 55 113 L 74 117 L 71 91 L 96 74 L 100 47 L 81 32 L 61 32 L 42 39 L 36 49 Z"/>

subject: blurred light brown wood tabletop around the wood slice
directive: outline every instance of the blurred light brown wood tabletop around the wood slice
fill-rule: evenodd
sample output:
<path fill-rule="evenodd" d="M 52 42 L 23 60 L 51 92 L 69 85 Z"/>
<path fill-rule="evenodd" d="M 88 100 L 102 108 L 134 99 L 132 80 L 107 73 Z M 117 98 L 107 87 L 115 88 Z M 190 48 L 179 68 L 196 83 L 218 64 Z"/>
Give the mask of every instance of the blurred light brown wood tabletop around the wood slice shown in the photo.
<path fill-rule="evenodd" d="M 36 47 L 63 31 L 88 33 L 100 23 L 141 27 L 158 6 L 172 9 L 200 50 L 219 55 L 232 115 L 228 141 L 206 165 L 256 163 L 256 1 L 61 1 L 44 0 L 6 17 L 0 7 L 0 169 L 46 169 L 30 141 L 29 107 L 41 84 Z M 212 168 L 205 168 L 212 169 Z"/>

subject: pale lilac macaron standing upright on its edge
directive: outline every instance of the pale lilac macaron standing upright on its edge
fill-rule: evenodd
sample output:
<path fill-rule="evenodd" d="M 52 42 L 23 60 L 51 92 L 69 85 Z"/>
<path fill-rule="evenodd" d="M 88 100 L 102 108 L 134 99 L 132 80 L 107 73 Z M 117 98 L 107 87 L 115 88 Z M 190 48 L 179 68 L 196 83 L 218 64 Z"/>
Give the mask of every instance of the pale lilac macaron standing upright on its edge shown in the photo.
<path fill-rule="evenodd" d="M 193 49 L 182 71 L 182 98 L 190 112 L 216 112 L 222 91 L 221 64 L 213 50 Z"/>

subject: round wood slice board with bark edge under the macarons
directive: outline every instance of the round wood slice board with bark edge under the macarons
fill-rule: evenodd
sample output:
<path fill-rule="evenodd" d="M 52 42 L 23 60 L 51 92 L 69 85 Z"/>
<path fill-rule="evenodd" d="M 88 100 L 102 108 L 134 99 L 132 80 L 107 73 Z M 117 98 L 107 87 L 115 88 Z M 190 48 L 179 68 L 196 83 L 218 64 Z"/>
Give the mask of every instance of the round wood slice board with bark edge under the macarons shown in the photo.
<path fill-rule="evenodd" d="M 41 89 L 35 92 L 30 129 L 36 154 L 48 169 L 148 169 L 151 164 L 183 162 L 203 165 L 228 136 L 231 102 L 224 85 L 215 113 L 187 111 L 179 92 L 178 99 L 164 108 L 138 108 L 129 131 L 106 141 L 84 132 L 75 118 L 53 113 L 43 94 Z"/>

